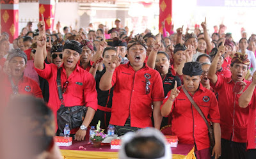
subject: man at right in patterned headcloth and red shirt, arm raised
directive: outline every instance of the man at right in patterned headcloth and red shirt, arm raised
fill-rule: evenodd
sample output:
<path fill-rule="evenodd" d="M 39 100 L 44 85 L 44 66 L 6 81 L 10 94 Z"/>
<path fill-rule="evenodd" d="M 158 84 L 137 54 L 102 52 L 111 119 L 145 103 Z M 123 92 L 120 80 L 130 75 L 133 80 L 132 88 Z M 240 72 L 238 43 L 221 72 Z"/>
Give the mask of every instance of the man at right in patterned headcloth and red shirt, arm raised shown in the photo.
<path fill-rule="evenodd" d="M 248 71 L 250 61 L 247 55 L 235 54 L 230 65 L 231 77 L 216 75 L 218 59 L 225 52 L 225 46 L 221 45 L 212 61 L 207 77 L 211 81 L 214 91 L 218 92 L 218 103 L 220 108 L 221 126 L 221 151 L 223 158 L 246 158 L 246 130 L 248 109 L 242 109 L 238 105 L 240 90 L 246 89 L 249 81 L 244 80 Z M 235 87 L 237 85 L 237 87 Z M 242 87 L 243 86 L 243 87 Z"/>

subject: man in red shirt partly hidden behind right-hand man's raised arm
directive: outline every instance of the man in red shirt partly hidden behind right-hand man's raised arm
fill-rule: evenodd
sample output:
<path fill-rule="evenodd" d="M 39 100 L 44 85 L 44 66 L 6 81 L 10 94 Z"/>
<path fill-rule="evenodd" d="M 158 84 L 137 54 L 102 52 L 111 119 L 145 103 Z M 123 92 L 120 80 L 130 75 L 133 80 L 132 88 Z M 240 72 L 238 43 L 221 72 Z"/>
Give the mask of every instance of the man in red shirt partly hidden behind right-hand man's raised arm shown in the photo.
<path fill-rule="evenodd" d="M 217 49 L 212 49 L 210 56 L 212 57 L 212 61 L 214 60 L 214 58 L 216 57 L 218 50 Z M 217 68 L 216 68 L 216 75 L 221 75 L 223 77 L 230 77 L 231 76 L 231 72 L 230 70 L 228 70 L 227 68 L 223 68 L 223 62 L 224 62 L 224 54 L 222 54 L 220 57 L 218 57 L 218 63 L 217 63 Z"/>

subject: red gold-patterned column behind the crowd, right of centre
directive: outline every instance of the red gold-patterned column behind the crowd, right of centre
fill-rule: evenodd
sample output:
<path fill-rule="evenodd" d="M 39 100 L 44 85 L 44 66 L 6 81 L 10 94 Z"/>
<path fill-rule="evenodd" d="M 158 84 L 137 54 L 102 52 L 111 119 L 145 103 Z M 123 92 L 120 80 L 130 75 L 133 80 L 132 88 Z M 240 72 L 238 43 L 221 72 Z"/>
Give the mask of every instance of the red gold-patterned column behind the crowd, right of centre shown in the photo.
<path fill-rule="evenodd" d="M 172 0 L 159 0 L 159 32 L 163 33 L 162 22 L 165 19 L 165 29 L 170 33 L 172 26 Z"/>

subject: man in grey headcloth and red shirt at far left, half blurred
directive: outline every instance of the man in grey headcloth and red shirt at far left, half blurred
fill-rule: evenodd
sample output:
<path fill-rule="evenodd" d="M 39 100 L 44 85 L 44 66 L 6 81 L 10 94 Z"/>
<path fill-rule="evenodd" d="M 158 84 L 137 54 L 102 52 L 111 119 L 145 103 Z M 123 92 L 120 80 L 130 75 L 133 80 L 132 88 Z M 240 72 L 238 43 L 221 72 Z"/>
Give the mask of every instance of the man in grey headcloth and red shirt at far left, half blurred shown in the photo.
<path fill-rule="evenodd" d="M 1 89 L 4 90 L 4 104 L 7 104 L 10 96 L 32 95 L 43 98 L 42 91 L 35 80 L 24 76 L 27 56 L 20 49 L 13 49 L 7 57 L 9 72 L 1 72 Z"/>

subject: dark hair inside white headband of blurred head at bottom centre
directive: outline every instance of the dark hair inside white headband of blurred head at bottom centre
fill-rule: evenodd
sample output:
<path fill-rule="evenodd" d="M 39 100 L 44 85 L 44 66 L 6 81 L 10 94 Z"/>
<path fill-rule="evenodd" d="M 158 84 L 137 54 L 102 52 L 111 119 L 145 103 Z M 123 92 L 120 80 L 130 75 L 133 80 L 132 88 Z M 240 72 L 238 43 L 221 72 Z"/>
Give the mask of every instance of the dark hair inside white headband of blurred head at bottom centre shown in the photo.
<path fill-rule="evenodd" d="M 154 136 L 135 137 L 125 144 L 125 153 L 131 158 L 161 158 L 165 155 L 165 146 Z"/>

